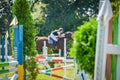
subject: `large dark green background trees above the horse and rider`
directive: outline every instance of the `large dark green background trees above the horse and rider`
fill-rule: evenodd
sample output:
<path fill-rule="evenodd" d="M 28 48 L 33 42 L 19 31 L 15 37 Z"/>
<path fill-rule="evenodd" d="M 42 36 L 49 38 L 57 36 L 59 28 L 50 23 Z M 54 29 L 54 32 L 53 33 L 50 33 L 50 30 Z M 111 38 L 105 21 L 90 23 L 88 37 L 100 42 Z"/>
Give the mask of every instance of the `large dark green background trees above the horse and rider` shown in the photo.
<path fill-rule="evenodd" d="M 78 25 L 97 15 L 99 4 L 99 0 L 35 0 L 35 3 L 38 2 L 46 4 L 40 8 L 45 20 L 38 25 L 40 35 L 48 35 L 59 27 L 65 31 L 75 31 Z"/>

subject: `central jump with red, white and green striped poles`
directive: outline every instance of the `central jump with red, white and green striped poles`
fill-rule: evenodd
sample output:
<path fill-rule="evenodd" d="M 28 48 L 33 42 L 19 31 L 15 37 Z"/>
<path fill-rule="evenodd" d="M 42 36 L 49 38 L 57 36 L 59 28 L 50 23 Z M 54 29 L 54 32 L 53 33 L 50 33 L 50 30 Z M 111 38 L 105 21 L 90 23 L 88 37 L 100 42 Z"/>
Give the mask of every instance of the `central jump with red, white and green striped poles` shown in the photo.
<path fill-rule="evenodd" d="M 59 57 L 47 57 L 47 47 L 46 47 L 46 42 L 44 41 L 44 46 L 43 46 L 43 56 L 37 56 L 35 61 L 36 62 L 63 62 L 64 66 L 61 67 L 56 67 L 56 68 L 51 68 L 48 70 L 39 70 L 39 73 L 43 73 L 46 74 L 48 76 L 53 76 L 56 78 L 60 78 L 60 79 L 65 79 L 65 80 L 76 80 L 76 74 L 77 74 L 77 66 L 76 66 L 76 62 L 73 59 L 66 59 L 66 39 L 64 39 L 64 57 L 60 57 L 60 52 L 61 50 L 59 50 Z M 66 65 L 67 62 L 73 62 L 74 64 L 70 64 L 70 65 Z M 46 65 L 46 64 L 45 64 Z M 69 67 L 74 67 L 74 78 L 67 78 L 66 77 L 66 68 Z M 51 74 L 52 71 L 56 71 L 56 70 L 64 70 L 64 76 L 59 76 L 56 74 Z"/>

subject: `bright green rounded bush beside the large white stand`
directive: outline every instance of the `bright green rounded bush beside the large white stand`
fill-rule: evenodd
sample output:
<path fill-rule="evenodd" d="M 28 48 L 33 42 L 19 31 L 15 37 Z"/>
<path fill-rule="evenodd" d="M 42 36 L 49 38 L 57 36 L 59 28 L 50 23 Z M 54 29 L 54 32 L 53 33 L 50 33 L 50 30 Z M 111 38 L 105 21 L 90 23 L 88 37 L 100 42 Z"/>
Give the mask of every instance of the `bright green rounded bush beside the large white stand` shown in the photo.
<path fill-rule="evenodd" d="M 84 22 L 74 32 L 74 43 L 70 50 L 71 55 L 74 55 L 78 63 L 79 69 L 94 74 L 95 46 L 97 22 L 95 19 L 90 19 L 89 22 Z"/>

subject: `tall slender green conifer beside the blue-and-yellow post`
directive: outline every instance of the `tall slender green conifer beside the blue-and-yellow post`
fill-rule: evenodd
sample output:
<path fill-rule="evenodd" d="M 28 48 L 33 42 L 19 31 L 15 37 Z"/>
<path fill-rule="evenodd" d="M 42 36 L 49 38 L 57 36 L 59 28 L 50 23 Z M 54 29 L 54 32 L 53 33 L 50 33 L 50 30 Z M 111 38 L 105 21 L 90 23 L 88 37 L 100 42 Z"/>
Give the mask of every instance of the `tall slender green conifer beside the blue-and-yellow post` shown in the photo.
<path fill-rule="evenodd" d="M 13 14 L 16 15 L 19 24 L 24 26 L 24 36 L 23 36 L 23 44 L 24 44 L 24 58 L 28 56 L 30 59 L 24 59 L 24 67 L 29 71 L 29 79 L 36 79 L 36 63 L 34 62 L 34 56 L 36 55 L 36 47 L 35 47 L 35 35 L 36 28 L 34 26 L 34 22 L 31 16 L 30 4 L 28 0 L 15 0 L 13 5 Z"/>

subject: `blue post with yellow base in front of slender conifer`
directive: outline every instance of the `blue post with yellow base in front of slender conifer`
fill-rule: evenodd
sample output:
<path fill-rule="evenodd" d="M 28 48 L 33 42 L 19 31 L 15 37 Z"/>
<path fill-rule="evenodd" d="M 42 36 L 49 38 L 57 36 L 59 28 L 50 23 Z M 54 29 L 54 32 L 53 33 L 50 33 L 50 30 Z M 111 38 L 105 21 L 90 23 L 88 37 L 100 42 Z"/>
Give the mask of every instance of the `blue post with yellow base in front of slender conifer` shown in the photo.
<path fill-rule="evenodd" d="M 14 26 L 14 52 L 15 60 L 18 61 L 18 80 L 24 79 L 23 67 L 23 25 Z"/>

